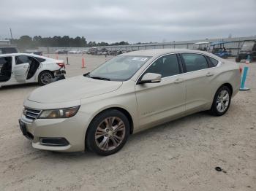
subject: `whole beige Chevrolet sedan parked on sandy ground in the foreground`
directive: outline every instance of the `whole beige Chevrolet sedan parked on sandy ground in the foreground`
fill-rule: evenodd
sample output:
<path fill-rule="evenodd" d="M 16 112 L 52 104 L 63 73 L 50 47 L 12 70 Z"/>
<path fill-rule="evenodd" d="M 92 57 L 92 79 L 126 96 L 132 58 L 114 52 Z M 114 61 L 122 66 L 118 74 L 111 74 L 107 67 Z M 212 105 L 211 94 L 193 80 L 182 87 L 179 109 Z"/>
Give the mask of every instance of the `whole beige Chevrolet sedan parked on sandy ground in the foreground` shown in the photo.
<path fill-rule="evenodd" d="M 37 149 L 111 155 L 140 130 L 200 111 L 225 114 L 240 75 L 236 63 L 208 52 L 129 52 L 34 90 L 20 129 Z"/>

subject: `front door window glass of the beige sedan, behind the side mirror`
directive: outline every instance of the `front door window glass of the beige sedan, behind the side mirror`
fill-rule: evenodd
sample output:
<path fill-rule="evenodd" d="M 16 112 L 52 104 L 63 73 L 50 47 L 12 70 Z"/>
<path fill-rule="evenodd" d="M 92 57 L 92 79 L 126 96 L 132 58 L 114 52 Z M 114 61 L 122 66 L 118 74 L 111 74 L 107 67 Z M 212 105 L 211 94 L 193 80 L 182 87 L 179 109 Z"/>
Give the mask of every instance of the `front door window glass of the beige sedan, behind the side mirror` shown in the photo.
<path fill-rule="evenodd" d="M 176 74 L 180 74 L 178 66 L 178 58 L 176 55 L 165 55 L 158 58 L 157 61 L 146 70 L 146 73 L 161 74 L 162 77 L 170 77 Z"/>

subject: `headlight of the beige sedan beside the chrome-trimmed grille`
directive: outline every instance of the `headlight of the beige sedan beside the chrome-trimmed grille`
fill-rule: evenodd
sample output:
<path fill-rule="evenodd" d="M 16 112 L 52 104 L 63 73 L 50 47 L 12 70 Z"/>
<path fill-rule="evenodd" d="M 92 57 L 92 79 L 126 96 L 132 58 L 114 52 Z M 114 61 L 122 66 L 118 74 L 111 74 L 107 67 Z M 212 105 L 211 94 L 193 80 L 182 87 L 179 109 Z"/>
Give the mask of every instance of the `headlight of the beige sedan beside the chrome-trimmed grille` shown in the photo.
<path fill-rule="evenodd" d="M 69 118 L 73 117 L 79 109 L 80 106 L 74 106 L 65 109 L 50 109 L 43 110 L 39 115 L 39 119 L 56 119 L 56 118 Z"/>

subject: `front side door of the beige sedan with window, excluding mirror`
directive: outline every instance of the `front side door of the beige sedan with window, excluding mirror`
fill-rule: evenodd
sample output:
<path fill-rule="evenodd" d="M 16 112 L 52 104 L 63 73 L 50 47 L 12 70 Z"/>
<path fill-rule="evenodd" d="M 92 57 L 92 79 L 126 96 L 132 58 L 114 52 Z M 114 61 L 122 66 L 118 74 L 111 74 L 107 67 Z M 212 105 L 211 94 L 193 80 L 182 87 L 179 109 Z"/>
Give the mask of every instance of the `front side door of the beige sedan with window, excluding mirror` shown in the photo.
<path fill-rule="evenodd" d="M 164 55 L 143 72 L 162 75 L 161 82 L 135 85 L 141 128 L 176 117 L 185 110 L 184 74 L 176 54 Z M 140 77 L 140 79 L 143 75 Z M 138 79 L 138 81 L 140 80 Z"/>

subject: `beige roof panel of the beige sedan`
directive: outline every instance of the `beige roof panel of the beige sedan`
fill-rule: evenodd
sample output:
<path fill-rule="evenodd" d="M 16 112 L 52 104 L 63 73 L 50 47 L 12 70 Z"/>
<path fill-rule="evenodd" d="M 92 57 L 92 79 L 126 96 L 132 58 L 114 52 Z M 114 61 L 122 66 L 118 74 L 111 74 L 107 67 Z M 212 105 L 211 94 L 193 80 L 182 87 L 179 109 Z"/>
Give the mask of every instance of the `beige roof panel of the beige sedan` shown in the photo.
<path fill-rule="evenodd" d="M 159 55 L 165 55 L 168 53 L 178 53 L 178 52 L 189 52 L 189 53 L 200 53 L 204 55 L 209 55 L 213 58 L 219 59 L 214 54 L 211 54 L 210 52 L 206 51 L 200 51 L 200 50 L 190 50 L 190 49 L 151 49 L 151 50 L 138 50 L 138 51 L 132 51 L 127 52 L 121 55 L 140 55 L 140 56 L 151 56 L 151 57 L 157 57 Z"/>

